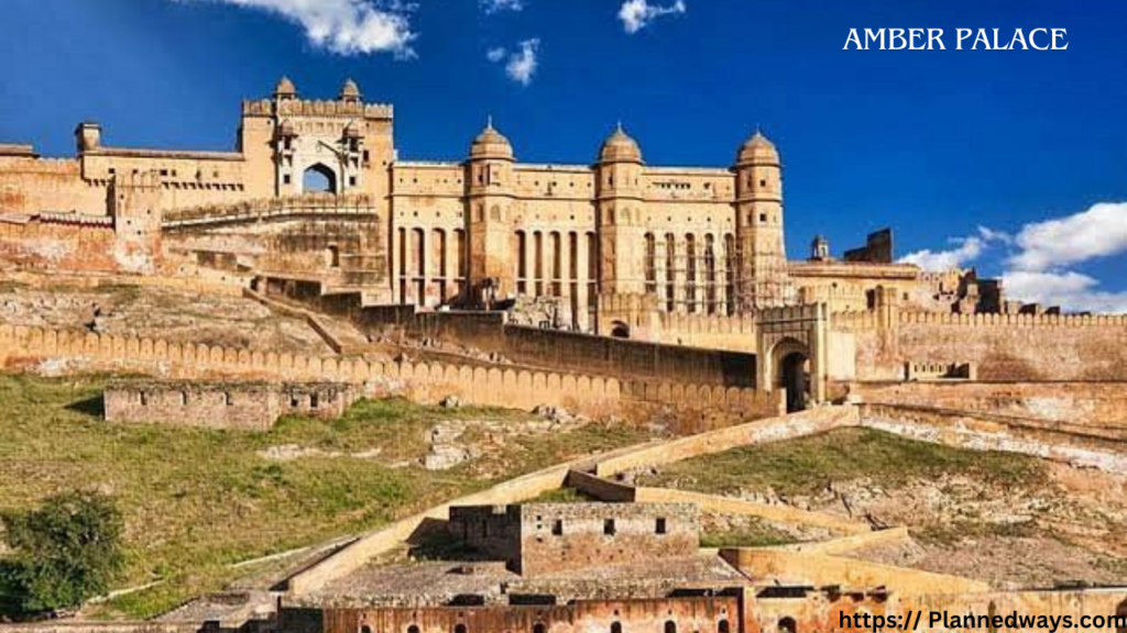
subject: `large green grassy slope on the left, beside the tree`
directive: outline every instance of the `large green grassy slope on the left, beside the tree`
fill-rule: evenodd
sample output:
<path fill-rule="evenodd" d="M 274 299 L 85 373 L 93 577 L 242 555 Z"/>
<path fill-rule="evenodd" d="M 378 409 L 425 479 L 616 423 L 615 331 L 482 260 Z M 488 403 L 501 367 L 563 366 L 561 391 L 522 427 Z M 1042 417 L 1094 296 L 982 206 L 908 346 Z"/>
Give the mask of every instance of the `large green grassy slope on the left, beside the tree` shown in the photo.
<path fill-rule="evenodd" d="M 499 480 L 648 438 L 601 425 L 517 435 L 504 451 L 429 472 L 415 463 L 435 422 L 529 414 L 382 400 L 361 401 L 335 421 L 284 418 L 264 434 L 108 425 L 100 418 L 103 385 L 96 376 L 0 376 L 0 509 L 63 490 L 115 496 L 126 518 L 127 572 L 118 586 L 165 582 L 109 601 L 97 613 L 106 617 L 151 616 L 247 572 L 232 563 L 370 529 Z M 344 455 L 289 462 L 257 455 L 286 444 Z M 350 456 L 372 449 L 379 456 Z"/>

